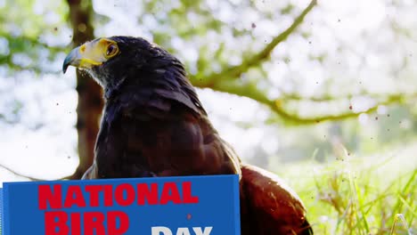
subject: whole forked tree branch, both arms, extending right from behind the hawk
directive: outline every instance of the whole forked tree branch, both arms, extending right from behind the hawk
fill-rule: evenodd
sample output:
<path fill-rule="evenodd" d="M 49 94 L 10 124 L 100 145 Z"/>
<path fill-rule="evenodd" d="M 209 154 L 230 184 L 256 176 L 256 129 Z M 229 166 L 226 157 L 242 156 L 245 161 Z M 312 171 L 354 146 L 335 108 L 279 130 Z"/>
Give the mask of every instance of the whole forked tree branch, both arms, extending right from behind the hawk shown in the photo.
<path fill-rule="evenodd" d="M 405 95 L 403 94 L 393 94 L 388 95 L 378 104 L 370 107 L 367 110 L 362 112 L 354 112 L 351 109 L 348 109 L 346 112 L 339 113 L 336 115 L 323 115 L 320 117 L 300 117 L 298 114 L 291 113 L 282 107 L 281 101 L 282 100 L 291 100 L 291 101 L 301 101 L 301 100 L 308 100 L 308 101 L 316 101 L 316 102 L 323 102 L 323 101 L 332 101 L 334 97 L 325 96 L 320 98 L 312 97 L 311 99 L 303 98 L 295 94 L 284 94 L 282 95 L 283 99 L 273 99 L 271 100 L 266 96 L 263 91 L 260 91 L 256 84 L 254 83 L 247 83 L 241 84 L 239 81 L 236 81 L 238 78 L 241 77 L 241 74 L 247 72 L 249 69 L 258 67 L 262 62 L 269 59 L 271 53 L 274 51 L 274 48 L 282 43 L 288 36 L 290 36 L 296 28 L 302 23 L 304 18 L 306 17 L 307 13 L 310 12 L 315 5 L 317 4 L 316 0 L 312 0 L 310 4 L 307 5 L 306 9 L 304 9 L 298 17 L 292 22 L 289 28 L 285 29 L 282 33 L 278 36 L 275 36 L 271 43 L 266 45 L 266 47 L 261 50 L 259 53 L 255 53 L 246 60 L 242 61 L 240 65 L 233 66 L 228 69 L 223 69 L 220 73 L 212 73 L 207 77 L 190 77 L 192 81 L 192 85 L 199 87 L 199 88 L 211 88 L 214 91 L 224 92 L 224 93 L 232 93 L 242 97 L 247 97 L 249 99 L 258 101 L 272 109 L 276 114 L 281 116 L 287 121 L 294 122 L 297 124 L 314 124 L 319 123 L 322 121 L 327 120 L 342 120 L 346 118 L 356 118 L 363 113 L 372 113 L 378 109 L 380 105 L 388 105 L 395 102 L 404 102 Z M 370 96 L 369 94 L 366 94 Z M 347 95 L 346 99 L 351 99 L 354 95 Z"/>

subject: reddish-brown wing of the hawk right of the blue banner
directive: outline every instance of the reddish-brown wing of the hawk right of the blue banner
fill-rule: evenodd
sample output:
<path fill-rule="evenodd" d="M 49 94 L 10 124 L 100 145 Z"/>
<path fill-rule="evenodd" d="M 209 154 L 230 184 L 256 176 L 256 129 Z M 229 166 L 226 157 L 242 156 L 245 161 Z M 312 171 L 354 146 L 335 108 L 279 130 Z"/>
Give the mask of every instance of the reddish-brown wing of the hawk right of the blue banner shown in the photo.
<path fill-rule="evenodd" d="M 298 195 L 276 174 L 241 166 L 242 235 L 313 234 Z"/>

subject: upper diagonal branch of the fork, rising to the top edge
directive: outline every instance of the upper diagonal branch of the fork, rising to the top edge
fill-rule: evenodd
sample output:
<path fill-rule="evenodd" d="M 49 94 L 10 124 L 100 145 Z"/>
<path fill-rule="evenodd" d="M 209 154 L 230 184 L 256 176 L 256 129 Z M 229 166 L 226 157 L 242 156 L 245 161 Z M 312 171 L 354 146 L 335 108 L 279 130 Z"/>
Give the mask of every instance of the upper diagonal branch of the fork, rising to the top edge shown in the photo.
<path fill-rule="evenodd" d="M 240 65 L 233 66 L 228 69 L 223 69 L 220 73 L 213 73 L 202 79 L 192 79 L 192 84 L 198 87 L 208 87 L 219 80 L 223 79 L 237 79 L 241 76 L 242 73 L 248 71 L 250 68 L 258 66 L 263 61 L 269 59 L 271 53 L 274 51 L 274 48 L 287 39 L 290 34 L 294 32 L 296 28 L 302 23 L 307 13 L 310 12 L 313 7 L 317 4 L 316 0 L 312 0 L 310 4 L 307 5 L 306 9 L 301 12 L 298 17 L 292 22 L 289 28 L 285 29 L 282 33 L 275 36 L 274 39 L 266 45 L 266 47 L 261 50 L 259 53 L 254 54 L 245 61 L 242 61 Z M 191 77 L 192 78 L 192 77 Z"/>

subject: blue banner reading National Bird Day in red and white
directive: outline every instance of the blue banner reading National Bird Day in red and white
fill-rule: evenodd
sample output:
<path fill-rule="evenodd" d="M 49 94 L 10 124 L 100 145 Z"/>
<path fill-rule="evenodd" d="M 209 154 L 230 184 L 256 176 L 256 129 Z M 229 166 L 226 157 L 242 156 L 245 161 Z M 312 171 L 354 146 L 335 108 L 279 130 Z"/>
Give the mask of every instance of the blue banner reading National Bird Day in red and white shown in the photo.
<path fill-rule="evenodd" d="M 238 175 L 4 182 L 3 186 L 3 235 L 241 232 Z"/>

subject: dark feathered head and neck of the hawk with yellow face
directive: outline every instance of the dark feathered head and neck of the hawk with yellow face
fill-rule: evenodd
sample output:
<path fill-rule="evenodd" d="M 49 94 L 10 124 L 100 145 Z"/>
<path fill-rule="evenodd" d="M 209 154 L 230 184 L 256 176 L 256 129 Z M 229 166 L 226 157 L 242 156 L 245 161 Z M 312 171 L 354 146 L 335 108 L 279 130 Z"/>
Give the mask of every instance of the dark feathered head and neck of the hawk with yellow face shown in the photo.
<path fill-rule="evenodd" d="M 62 66 L 64 73 L 69 66 L 89 73 L 102 85 L 107 99 L 114 97 L 120 87 L 128 85 L 136 91 L 154 91 L 205 113 L 181 61 L 141 37 L 96 38 L 68 54 Z"/>

